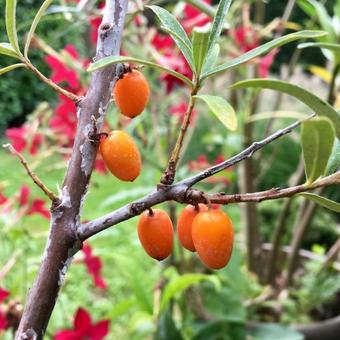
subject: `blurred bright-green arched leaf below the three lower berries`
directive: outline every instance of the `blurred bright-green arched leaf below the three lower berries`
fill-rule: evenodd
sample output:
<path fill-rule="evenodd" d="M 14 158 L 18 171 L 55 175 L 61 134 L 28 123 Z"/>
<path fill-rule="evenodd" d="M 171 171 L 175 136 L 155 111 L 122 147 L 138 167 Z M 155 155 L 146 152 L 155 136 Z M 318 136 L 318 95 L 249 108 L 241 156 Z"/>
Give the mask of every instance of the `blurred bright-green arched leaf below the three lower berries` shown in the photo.
<path fill-rule="evenodd" d="M 177 294 L 182 293 L 190 286 L 196 285 L 201 281 L 211 281 L 216 288 L 219 288 L 219 281 L 214 275 L 198 273 L 183 274 L 171 280 L 166 285 L 161 298 L 160 311 L 163 311 L 167 307 L 169 301 L 172 298 L 174 298 Z"/>

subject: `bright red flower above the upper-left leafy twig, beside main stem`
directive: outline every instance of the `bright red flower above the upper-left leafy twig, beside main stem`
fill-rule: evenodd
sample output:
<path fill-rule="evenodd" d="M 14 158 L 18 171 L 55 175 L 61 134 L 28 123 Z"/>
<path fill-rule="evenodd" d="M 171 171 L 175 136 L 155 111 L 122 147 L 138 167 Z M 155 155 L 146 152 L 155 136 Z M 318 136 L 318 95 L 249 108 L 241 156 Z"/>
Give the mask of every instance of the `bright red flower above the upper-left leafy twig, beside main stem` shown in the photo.
<path fill-rule="evenodd" d="M 78 53 L 73 45 L 66 45 L 64 51 L 66 51 L 73 59 L 78 59 Z M 69 68 L 62 61 L 52 55 L 46 56 L 45 61 L 52 69 L 51 80 L 53 82 L 67 82 L 72 89 L 76 90 L 79 88 L 79 76 L 75 70 Z"/>

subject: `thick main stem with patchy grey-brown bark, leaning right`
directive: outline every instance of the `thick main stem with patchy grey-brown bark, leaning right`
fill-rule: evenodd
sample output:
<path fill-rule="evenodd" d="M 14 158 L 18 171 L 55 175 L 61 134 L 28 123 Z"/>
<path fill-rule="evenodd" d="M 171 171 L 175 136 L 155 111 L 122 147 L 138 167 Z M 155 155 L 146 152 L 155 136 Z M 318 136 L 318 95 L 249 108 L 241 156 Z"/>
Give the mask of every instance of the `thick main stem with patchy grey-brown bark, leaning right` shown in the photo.
<path fill-rule="evenodd" d="M 127 3 L 128 0 L 106 0 L 98 29 L 96 60 L 119 55 Z M 27 297 L 16 340 L 43 338 L 68 266 L 82 247 L 77 228 L 98 150 L 98 143 L 93 143 L 89 136 L 95 129 L 101 131 L 116 71 L 116 66 L 94 71 L 85 97 L 77 102 L 77 133 L 59 197 L 60 204 L 53 204 L 51 208 L 44 255 Z"/>

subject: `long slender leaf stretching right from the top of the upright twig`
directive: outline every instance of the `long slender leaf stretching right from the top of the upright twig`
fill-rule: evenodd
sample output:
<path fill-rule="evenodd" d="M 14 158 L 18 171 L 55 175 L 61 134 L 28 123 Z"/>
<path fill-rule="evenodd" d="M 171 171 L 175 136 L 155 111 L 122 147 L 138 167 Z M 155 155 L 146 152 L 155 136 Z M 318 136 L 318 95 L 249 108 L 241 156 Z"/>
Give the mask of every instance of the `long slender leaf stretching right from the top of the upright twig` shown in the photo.
<path fill-rule="evenodd" d="M 203 74 L 202 78 L 208 78 L 215 74 L 224 72 L 230 68 L 241 65 L 251 59 L 259 57 L 265 53 L 270 52 L 276 47 L 285 45 L 289 42 L 299 40 L 299 39 L 309 39 L 309 38 L 319 38 L 325 36 L 327 33 L 323 31 L 300 31 L 291 34 L 284 35 L 283 37 L 269 41 L 259 47 L 252 49 L 251 51 L 242 54 L 241 56 L 234 58 L 226 63 L 215 67 L 213 70 Z"/>

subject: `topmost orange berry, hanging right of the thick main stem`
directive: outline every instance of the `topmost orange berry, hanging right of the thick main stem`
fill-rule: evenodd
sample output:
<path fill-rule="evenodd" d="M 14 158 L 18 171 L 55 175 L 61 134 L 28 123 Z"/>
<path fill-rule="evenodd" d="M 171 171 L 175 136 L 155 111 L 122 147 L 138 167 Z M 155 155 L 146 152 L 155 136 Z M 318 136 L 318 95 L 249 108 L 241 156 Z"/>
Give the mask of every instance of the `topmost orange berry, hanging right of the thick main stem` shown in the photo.
<path fill-rule="evenodd" d="M 149 84 L 138 70 L 125 73 L 113 88 L 113 98 L 118 110 L 130 118 L 143 112 L 149 101 L 149 95 Z"/>

